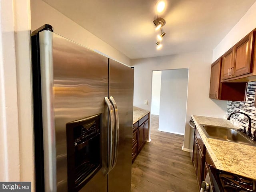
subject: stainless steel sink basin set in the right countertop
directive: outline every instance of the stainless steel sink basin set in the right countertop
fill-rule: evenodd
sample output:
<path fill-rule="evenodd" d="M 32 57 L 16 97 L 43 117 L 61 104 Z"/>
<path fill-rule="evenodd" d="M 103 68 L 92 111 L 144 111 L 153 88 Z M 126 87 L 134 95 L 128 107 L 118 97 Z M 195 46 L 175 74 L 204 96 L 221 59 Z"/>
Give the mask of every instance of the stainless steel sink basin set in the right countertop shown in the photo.
<path fill-rule="evenodd" d="M 256 142 L 251 140 L 246 134 L 232 128 L 220 127 L 213 125 L 200 125 L 202 131 L 208 138 L 214 138 L 224 141 L 237 142 L 242 144 L 255 145 Z"/>

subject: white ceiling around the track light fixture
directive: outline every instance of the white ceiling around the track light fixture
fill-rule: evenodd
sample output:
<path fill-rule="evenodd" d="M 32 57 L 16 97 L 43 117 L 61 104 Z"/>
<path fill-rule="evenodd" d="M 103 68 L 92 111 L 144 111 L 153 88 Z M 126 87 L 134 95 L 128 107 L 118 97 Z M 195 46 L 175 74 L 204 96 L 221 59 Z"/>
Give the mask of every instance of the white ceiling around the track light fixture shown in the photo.
<path fill-rule="evenodd" d="M 130 59 L 213 50 L 256 0 L 168 0 L 156 50 L 157 0 L 44 0 Z"/>

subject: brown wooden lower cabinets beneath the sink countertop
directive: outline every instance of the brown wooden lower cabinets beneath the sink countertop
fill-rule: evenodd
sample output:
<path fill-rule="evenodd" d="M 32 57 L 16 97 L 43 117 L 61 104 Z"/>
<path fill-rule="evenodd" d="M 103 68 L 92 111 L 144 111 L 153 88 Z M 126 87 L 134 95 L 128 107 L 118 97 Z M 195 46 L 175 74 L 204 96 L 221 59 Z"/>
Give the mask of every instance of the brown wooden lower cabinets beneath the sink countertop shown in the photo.
<path fill-rule="evenodd" d="M 192 163 L 196 171 L 196 178 L 200 188 L 202 181 L 206 177 L 209 166 L 215 166 L 196 128 L 194 135 Z"/>

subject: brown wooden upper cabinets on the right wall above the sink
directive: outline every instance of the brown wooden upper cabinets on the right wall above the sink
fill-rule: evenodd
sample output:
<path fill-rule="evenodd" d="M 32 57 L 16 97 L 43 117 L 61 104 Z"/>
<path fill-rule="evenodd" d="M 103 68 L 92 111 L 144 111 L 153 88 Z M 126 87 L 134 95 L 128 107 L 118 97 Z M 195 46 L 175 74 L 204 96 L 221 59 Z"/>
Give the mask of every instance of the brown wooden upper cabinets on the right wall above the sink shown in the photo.
<path fill-rule="evenodd" d="M 256 29 L 212 64 L 210 98 L 246 100 L 247 82 L 256 81 L 255 36 Z"/>

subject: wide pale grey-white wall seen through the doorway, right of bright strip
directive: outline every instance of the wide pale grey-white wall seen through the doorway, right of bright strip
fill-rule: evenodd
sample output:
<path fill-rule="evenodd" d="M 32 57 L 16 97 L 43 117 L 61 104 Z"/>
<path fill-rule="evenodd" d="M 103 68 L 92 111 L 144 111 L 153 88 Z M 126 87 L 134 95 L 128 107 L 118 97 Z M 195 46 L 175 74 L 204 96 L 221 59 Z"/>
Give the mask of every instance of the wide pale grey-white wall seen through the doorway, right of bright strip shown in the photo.
<path fill-rule="evenodd" d="M 188 69 L 162 71 L 160 96 L 160 131 L 185 133 Z"/>

